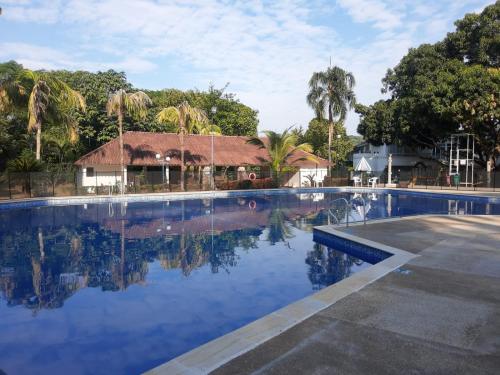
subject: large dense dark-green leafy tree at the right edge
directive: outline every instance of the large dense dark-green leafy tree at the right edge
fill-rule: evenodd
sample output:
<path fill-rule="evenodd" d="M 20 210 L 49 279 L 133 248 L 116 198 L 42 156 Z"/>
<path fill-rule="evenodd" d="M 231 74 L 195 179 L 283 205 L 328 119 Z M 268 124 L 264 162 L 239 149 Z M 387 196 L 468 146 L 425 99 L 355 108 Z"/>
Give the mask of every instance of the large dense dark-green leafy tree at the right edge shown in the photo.
<path fill-rule="evenodd" d="M 500 2 L 456 22 L 435 45 L 410 49 L 383 79 L 391 95 L 358 105 L 358 132 L 374 144 L 439 146 L 460 127 L 483 163 L 500 155 Z"/>

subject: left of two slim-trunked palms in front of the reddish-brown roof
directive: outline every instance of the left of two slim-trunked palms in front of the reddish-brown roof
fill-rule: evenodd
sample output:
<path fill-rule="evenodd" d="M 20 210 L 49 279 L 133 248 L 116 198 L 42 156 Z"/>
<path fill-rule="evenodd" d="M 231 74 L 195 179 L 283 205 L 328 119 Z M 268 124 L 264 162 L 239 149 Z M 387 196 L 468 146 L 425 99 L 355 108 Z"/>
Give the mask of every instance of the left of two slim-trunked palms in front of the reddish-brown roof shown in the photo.
<path fill-rule="evenodd" d="M 106 110 L 108 116 L 116 115 L 118 117 L 118 134 L 120 139 L 120 176 L 121 176 L 121 193 L 124 193 L 125 176 L 124 176 L 124 163 L 123 163 L 123 116 L 125 113 L 136 119 L 143 119 L 147 115 L 148 106 L 152 105 L 149 96 L 143 91 L 127 93 L 125 90 L 120 89 L 114 94 L 110 95 Z"/>

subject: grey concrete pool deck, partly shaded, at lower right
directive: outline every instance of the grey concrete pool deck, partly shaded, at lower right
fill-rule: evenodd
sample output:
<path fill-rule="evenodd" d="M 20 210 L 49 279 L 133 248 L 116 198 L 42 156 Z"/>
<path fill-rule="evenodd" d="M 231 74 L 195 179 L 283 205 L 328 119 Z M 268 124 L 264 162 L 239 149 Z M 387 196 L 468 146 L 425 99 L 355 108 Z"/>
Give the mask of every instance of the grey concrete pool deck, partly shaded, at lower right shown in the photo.
<path fill-rule="evenodd" d="M 420 256 L 214 374 L 500 373 L 500 216 L 344 230 Z"/>

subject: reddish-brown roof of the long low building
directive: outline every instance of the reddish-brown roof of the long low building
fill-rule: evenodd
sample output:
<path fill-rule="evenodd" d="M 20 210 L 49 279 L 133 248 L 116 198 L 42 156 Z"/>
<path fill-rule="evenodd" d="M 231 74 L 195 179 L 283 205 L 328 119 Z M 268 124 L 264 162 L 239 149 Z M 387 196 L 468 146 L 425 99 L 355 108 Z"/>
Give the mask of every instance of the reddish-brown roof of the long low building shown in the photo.
<path fill-rule="evenodd" d="M 268 161 L 265 149 L 247 143 L 248 137 L 214 136 L 214 164 L 216 166 L 264 165 Z M 170 165 L 180 165 L 180 141 L 175 133 L 126 132 L 123 135 L 124 161 L 126 165 L 158 166 L 156 154 L 170 156 Z M 184 158 L 186 165 L 211 164 L 212 137 L 209 135 L 185 135 Z M 307 152 L 297 151 L 290 164 L 300 167 L 327 167 L 328 161 L 317 158 L 300 160 L 310 156 Z M 118 138 L 82 156 L 76 165 L 118 165 L 120 148 Z"/>

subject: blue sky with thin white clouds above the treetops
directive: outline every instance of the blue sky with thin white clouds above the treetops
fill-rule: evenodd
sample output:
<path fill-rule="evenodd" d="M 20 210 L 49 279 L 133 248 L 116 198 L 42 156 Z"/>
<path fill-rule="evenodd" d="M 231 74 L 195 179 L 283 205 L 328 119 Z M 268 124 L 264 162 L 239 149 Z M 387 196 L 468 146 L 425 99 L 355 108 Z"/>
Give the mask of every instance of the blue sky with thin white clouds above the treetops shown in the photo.
<path fill-rule="evenodd" d="M 229 91 L 259 129 L 307 126 L 312 72 L 354 73 L 358 101 L 408 48 L 433 43 L 493 0 L 0 0 L 0 61 L 33 69 L 123 70 L 140 88 Z M 355 134 L 357 116 L 347 128 Z"/>

